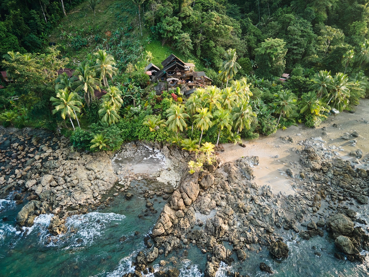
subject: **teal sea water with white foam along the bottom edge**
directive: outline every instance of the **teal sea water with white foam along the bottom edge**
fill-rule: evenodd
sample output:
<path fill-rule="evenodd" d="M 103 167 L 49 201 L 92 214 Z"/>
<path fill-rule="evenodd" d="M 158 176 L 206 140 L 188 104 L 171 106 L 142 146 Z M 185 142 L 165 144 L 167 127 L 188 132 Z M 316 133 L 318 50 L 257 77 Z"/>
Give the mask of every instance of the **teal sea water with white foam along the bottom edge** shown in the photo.
<path fill-rule="evenodd" d="M 142 182 L 145 186 L 145 182 Z M 165 204 L 161 197 L 150 199 L 157 213 L 147 212 L 146 200 L 139 190 L 131 200 L 123 195 L 115 198 L 110 206 L 101 207 L 85 215 L 70 216 L 66 222 L 69 232 L 51 236 L 47 227 L 53 215 L 40 215 L 31 228 L 17 230 L 15 217 L 21 205 L 11 200 L 13 195 L 0 199 L 0 276 L 111 276 L 120 277 L 133 272 L 132 260 L 137 253 L 146 249 L 145 237 L 151 232 L 159 213 Z M 139 218 L 138 215 L 147 213 Z M 360 217 L 369 222 L 368 209 Z M 363 226 L 367 228 L 366 226 Z M 265 262 L 275 271 L 273 276 L 368 276 L 368 253 L 364 264 L 337 260 L 334 257 L 334 241 L 325 233 L 308 241 L 284 237 L 290 249 L 289 257 L 276 261 L 263 249 L 247 252 L 249 258 L 231 265 L 221 263 L 218 277 L 227 272 L 238 271 L 249 276 L 269 276 L 259 270 Z M 230 248 L 228 244 L 225 245 Z M 255 248 L 258 248 L 255 247 Z M 183 255 L 184 250 L 188 256 Z M 152 264 L 155 270 L 163 269 L 159 261 L 169 263 L 164 267 L 177 267 L 181 277 L 203 276 L 206 255 L 190 243 L 168 257 L 159 256 Z M 176 260 L 173 263 L 173 260 Z M 154 276 L 147 274 L 146 276 Z"/>

